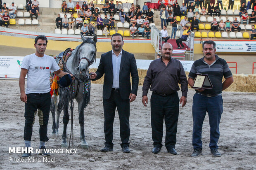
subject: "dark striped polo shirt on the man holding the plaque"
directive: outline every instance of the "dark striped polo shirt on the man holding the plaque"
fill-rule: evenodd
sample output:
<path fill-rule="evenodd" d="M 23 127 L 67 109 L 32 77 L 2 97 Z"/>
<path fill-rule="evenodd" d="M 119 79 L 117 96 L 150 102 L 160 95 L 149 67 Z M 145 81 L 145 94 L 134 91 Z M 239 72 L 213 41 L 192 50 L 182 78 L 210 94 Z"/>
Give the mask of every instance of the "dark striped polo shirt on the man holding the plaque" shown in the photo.
<path fill-rule="evenodd" d="M 206 89 L 201 93 L 205 94 L 219 94 L 222 91 L 222 78 L 224 76 L 225 79 L 232 77 L 232 73 L 230 68 L 228 67 L 227 62 L 219 58 L 215 54 L 216 60 L 209 65 L 204 61 L 204 57 L 194 61 L 192 68 L 190 70 L 190 74 L 188 77 L 195 79 L 196 73 L 207 74 L 210 78 L 210 81 L 213 85 L 212 89 Z"/>

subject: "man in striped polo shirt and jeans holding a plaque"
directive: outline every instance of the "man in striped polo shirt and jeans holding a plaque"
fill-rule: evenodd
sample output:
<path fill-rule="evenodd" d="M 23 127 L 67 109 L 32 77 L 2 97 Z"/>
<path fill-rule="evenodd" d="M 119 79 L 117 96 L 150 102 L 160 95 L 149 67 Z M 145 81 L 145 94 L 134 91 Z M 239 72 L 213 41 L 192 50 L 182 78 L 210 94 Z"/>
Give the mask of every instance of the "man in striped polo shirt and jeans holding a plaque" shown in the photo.
<path fill-rule="evenodd" d="M 221 156 L 217 145 L 220 137 L 220 117 L 223 112 L 221 92 L 232 84 L 233 77 L 227 62 L 215 54 L 215 47 L 216 44 L 213 41 L 203 43 L 204 57 L 193 63 L 188 75 L 188 84 L 196 91 L 192 106 L 194 121 L 192 137 L 194 152 L 192 157 L 202 154 L 201 133 L 206 112 L 209 115 L 211 128 L 209 144 L 211 154 L 215 157 Z M 223 76 L 224 82 L 222 82 Z M 206 87 L 204 87 L 205 85 Z"/>

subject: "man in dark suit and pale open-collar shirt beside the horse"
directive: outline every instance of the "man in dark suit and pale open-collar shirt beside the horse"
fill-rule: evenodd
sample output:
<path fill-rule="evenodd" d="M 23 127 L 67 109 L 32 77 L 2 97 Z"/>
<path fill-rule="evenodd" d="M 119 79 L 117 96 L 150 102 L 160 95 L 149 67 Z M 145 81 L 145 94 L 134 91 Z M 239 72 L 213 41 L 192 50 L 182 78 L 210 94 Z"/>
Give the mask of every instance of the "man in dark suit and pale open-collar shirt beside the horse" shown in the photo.
<path fill-rule="evenodd" d="M 100 79 L 104 74 L 103 107 L 104 107 L 104 133 L 105 147 L 103 152 L 113 151 L 113 122 L 116 107 L 120 119 L 121 147 L 125 153 L 130 153 L 130 103 L 137 95 L 139 77 L 137 65 L 133 54 L 124 51 L 123 36 L 114 34 L 111 37 L 112 50 L 102 54 L 100 65 L 96 73 L 91 72 L 92 81 Z M 130 84 L 132 77 L 132 88 Z"/>

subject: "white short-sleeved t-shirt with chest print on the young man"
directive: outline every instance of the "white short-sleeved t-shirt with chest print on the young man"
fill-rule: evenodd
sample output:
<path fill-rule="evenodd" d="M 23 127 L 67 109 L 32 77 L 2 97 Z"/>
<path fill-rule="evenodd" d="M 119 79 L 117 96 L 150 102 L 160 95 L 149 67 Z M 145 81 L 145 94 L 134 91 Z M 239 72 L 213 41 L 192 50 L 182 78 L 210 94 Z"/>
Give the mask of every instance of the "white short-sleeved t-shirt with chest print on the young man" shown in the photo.
<path fill-rule="evenodd" d="M 25 56 L 21 68 L 28 70 L 26 94 L 48 93 L 50 88 L 50 70 L 59 70 L 59 65 L 51 56 L 38 57 L 36 54 Z"/>

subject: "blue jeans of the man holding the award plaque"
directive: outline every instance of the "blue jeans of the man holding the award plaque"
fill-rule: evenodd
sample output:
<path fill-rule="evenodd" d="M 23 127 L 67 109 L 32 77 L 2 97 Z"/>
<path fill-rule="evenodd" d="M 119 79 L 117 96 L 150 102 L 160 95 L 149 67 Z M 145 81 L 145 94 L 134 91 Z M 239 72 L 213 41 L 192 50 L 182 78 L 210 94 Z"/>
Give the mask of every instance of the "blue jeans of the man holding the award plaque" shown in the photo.
<path fill-rule="evenodd" d="M 220 117 L 223 112 L 222 96 L 207 97 L 194 94 L 193 97 L 193 137 L 192 144 L 194 149 L 202 148 L 202 126 L 204 117 L 208 112 L 210 124 L 210 149 L 218 149 L 218 139 L 220 137 Z"/>

